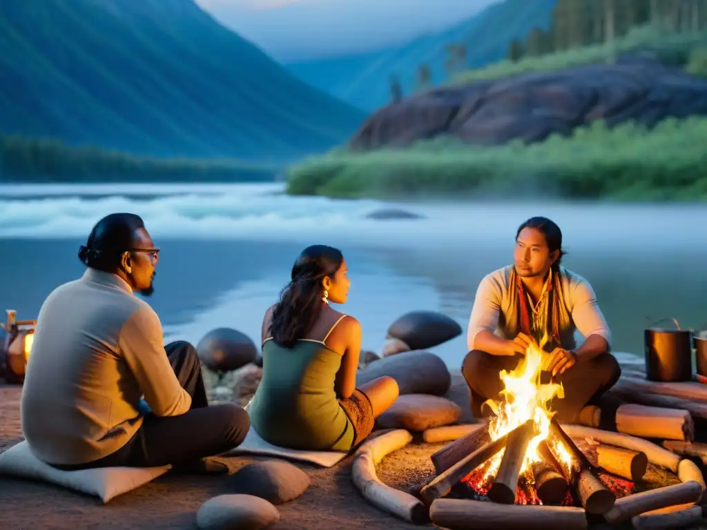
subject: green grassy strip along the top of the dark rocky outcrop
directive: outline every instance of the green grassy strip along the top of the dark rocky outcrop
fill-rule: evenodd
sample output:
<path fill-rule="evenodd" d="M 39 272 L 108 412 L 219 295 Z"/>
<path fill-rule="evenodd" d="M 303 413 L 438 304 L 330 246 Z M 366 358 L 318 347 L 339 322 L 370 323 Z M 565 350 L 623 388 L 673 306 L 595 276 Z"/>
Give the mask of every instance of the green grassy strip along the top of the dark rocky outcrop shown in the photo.
<path fill-rule="evenodd" d="M 638 51 L 653 54 L 665 64 L 685 66 L 691 61 L 691 54 L 696 49 L 705 47 L 707 47 L 707 32 L 663 33 L 657 28 L 645 26 L 631 30 L 624 37 L 615 40 L 612 46 L 604 44 L 586 46 L 539 57 L 525 57 L 518 62 L 501 61 L 484 68 L 459 73 L 452 78 L 452 83 L 472 83 L 520 73 L 603 63 L 611 61 L 617 54 Z"/>

